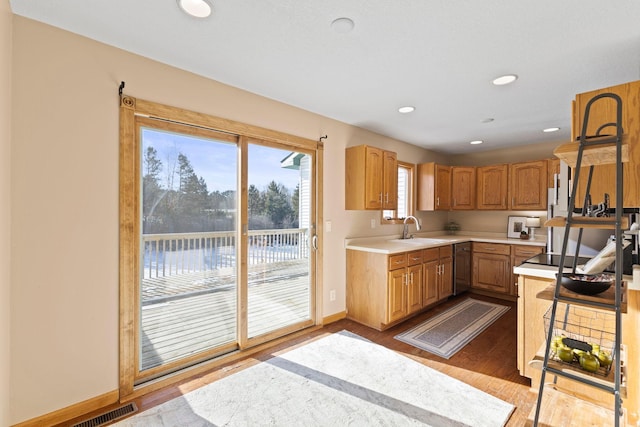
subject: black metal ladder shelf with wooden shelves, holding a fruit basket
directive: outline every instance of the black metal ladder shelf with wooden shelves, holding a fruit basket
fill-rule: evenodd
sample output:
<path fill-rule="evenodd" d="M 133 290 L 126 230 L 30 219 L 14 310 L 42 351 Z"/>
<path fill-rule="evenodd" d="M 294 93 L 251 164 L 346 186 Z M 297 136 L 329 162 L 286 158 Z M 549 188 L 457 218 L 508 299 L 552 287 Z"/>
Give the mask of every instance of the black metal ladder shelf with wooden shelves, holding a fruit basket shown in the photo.
<path fill-rule="evenodd" d="M 616 121 L 614 123 L 598 123 L 600 126 L 597 128 L 596 135 L 593 137 L 587 136 L 587 129 L 589 128 L 589 113 L 591 106 L 602 99 L 607 99 L 608 102 L 613 102 L 616 105 Z M 604 101 L 607 102 L 607 101 Z M 615 135 L 602 135 L 605 129 L 610 131 L 615 130 Z M 558 274 L 555 286 L 551 286 L 538 293 L 539 298 L 551 299 L 553 304 L 551 308 L 545 314 L 545 324 L 547 327 L 546 341 L 543 348 L 539 349 L 533 360 L 530 362 L 531 366 L 540 367 L 542 370 L 540 376 L 540 386 L 538 391 L 538 400 L 536 403 L 535 411 L 533 412 L 532 425 L 537 427 L 542 422 L 542 425 L 565 425 L 567 418 L 565 417 L 579 417 L 584 420 L 580 422 L 577 419 L 571 420 L 571 425 L 611 425 L 611 419 L 613 419 L 613 425 L 620 426 L 621 418 L 623 416 L 622 411 L 622 346 L 621 346 L 621 313 L 623 309 L 626 310 L 626 305 L 623 304 L 624 287 L 622 281 L 622 258 L 623 258 L 623 228 L 628 228 L 628 220 L 622 217 L 623 204 L 623 168 L 622 163 L 628 161 L 629 158 L 629 143 L 627 138 L 623 138 L 622 133 L 622 100 L 620 96 L 614 93 L 602 93 L 594 96 L 586 104 L 584 121 L 582 123 L 582 132 L 580 134 L 577 143 L 564 144 L 558 147 L 554 154 L 573 167 L 573 190 L 571 192 L 572 197 L 569 200 L 568 215 L 566 218 L 556 217 L 552 218 L 545 223 L 547 227 L 564 227 L 564 240 L 562 245 L 562 252 L 560 255 L 560 262 L 558 267 Z M 591 181 L 593 178 L 593 171 L 595 166 L 615 164 L 616 168 L 616 204 L 617 207 L 615 217 L 591 217 L 588 216 L 589 212 L 589 191 L 591 187 Z M 583 166 L 588 166 L 587 185 L 584 197 L 584 203 L 582 207 L 582 215 L 574 216 L 575 210 L 575 195 L 577 193 L 578 182 L 580 178 L 580 171 Z M 607 206 L 608 207 L 608 206 Z M 608 212 L 605 211 L 606 214 Z M 561 284 L 561 278 L 565 273 L 565 257 L 569 242 L 569 232 L 571 228 L 579 229 L 577 238 L 575 253 L 580 253 L 580 242 L 582 240 L 582 233 L 584 229 L 607 229 L 615 231 L 616 239 L 616 261 L 615 261 L 615 282 L 613 288 L 607 290 L 598 295 L 581 295 L 564 289 Z M 572 273 L 576 272 L 576 264 L 574 263 Z M 559 304 L 561 305 L 559 307 Z M 579 306 L 576 309 L 573 306 Z M 600 310 L 600 311 L 598 311 Z M 613 311 L 613 322 L 597 322 L 596 319 L 601 315 L 601 310 Z M 560 313 L 558 313 L 560 312 Z M 609 314 L 611 316 L 611 314 Z M 580 319 L 578 322 L 574 322 L 573 319 Z M 583 328 L 582 321 L 587 324 Z M 598 325 L 597 327 L 589 327 L 589 325 Z M 605 325 L 606 323 L 606 325 Z M 608 323 L 614 323 L 611 327 Z M 607 332 L 605 332 L 608 329 Z M 602 329 L 597 329 L 602 328 Z M 578 331 L 578 332 L 569 332 Z M 598 332 L 606 334 L 606 340 L 597 341 Z M 554 336 L 566 336 L 571 338 L 571 347 L 582 348 L 583 350 L 592 351 L 592 344 L 598 345 L 606 342 L 608 350 L 611 351 L 613 357 L 613 364 L 608 368 L 606 376 L 601 374 L 601 368 L 598 368 L 598 372 L 590 374 L 582 370 L 575 363 L 564 363 L 559 360 L 554 360 L 555 350 L 552 350 L 552 339 Z M 568 345 L 569 341 L 563 338 L 563 345 Z M 582 361 L 582 356 L 581 356 Z M 598 365 L 599 366 L 599 365 Z M 554 383 L 557 380 L 568 382 L 578 382 L 586 384 L 587 388 L 595 387 L 600 392 L 609 393 L 613 395 L 613 412 L 609 413 L 602 409 L 602 416 L 605 419 L 601 423 L 593 422 L 592 415 L 585 417 L 585 414 L 581 411 L 576 412 L 575 408 L 584 406 L 586 403 L 582 402 L 575 397 L 566 395 L 565 393 L 559 393 L 549 388 L 545 383 L 546 374 L 549 373 L 555 377 Z M 577 385 L 576 385 L 577 386 Z M 576 387 L 577 388 L 577 387 Z M 553 394 L 553 405 L 545 405 L 543 408 L 544 394 Z M 566 411 L 555 411 L 554 407 L 558 406 L 559 402 L 563 402 L 563 406 Z M 589 412 L 597 412 L 599 409 L 595 409 Z M 551 415 L 550 415 L 551 413 Z M 606 418 L 610 417 L 610 418 Z M 549 421 L 551 419 L 551 421 Z M 554 422 L 562 421 L 561 423 Z"/>

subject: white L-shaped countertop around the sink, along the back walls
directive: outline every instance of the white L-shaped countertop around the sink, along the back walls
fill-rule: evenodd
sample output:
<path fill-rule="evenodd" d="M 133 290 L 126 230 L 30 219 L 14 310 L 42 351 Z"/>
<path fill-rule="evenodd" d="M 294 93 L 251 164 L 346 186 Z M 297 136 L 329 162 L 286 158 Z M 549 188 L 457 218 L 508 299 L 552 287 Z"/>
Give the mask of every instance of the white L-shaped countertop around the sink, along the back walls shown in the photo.
<path fill-rule="evenodd" d="M 461 233 L 461 234 L 416 234 L 415 237 L 428 238 L 437 240 L 437 242 L 417 243 L 407 239 L 407 242 L 399 242 L 398 237 L 366 237 L 352 238 L 345 240 L 345 248 L 365 251 L 377 252 L 382 254 L 395 254 L 400 252 L 413 251 L 418 249 L 435 248 L 438 246 L 451 245 L 463 242 L 487 242 L 487 243 L 504 243 L 508 245 L 529 245 L 529 246 L 546 246 L 545 239 L 522 240 L 509 239 L 503 233 Z"/>

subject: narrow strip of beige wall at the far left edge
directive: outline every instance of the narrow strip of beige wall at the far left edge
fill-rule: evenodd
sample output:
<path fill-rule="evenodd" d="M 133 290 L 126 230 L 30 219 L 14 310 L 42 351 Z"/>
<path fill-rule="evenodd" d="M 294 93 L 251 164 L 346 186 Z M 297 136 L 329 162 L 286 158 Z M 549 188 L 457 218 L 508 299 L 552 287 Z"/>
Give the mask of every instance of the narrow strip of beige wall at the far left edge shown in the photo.
<path fill-rule="evenodd" d="M 11 33 L 9 0 L 0 1 L 0 425 L 9 425 L 11 311 Z"/>

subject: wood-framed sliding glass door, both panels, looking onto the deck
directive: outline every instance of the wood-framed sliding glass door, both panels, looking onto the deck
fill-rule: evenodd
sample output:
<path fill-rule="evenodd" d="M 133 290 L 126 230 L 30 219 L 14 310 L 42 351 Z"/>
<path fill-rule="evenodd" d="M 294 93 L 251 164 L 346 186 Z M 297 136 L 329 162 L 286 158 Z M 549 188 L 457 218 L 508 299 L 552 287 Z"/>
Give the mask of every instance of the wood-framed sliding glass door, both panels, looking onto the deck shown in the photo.
<path fill-rule="evenodd" d="M 316 153 L 135 125 L 134 384 L 313 325 Z"/>

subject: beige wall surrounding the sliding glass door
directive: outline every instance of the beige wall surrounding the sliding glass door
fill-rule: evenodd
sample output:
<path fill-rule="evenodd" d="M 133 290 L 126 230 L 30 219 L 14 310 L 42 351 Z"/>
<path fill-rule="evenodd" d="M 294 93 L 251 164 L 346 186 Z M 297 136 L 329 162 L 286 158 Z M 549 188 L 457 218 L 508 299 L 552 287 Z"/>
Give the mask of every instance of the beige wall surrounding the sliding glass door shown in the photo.
<path fill-rule="evenodd" d="M 118 387 L 121 80 L 134 97 L 309 139 L 328 135 L 324 218 L 333 229 L 324 240 L 324 316 L 345 308 L 345 237 L 400 232 L 370 229 L 368 217 L 379 213 L 344 210 L 345 147 L 366 143 L 400 160 L 442 160 L 18 16 L 13 50 L 11 423 Z"/>

